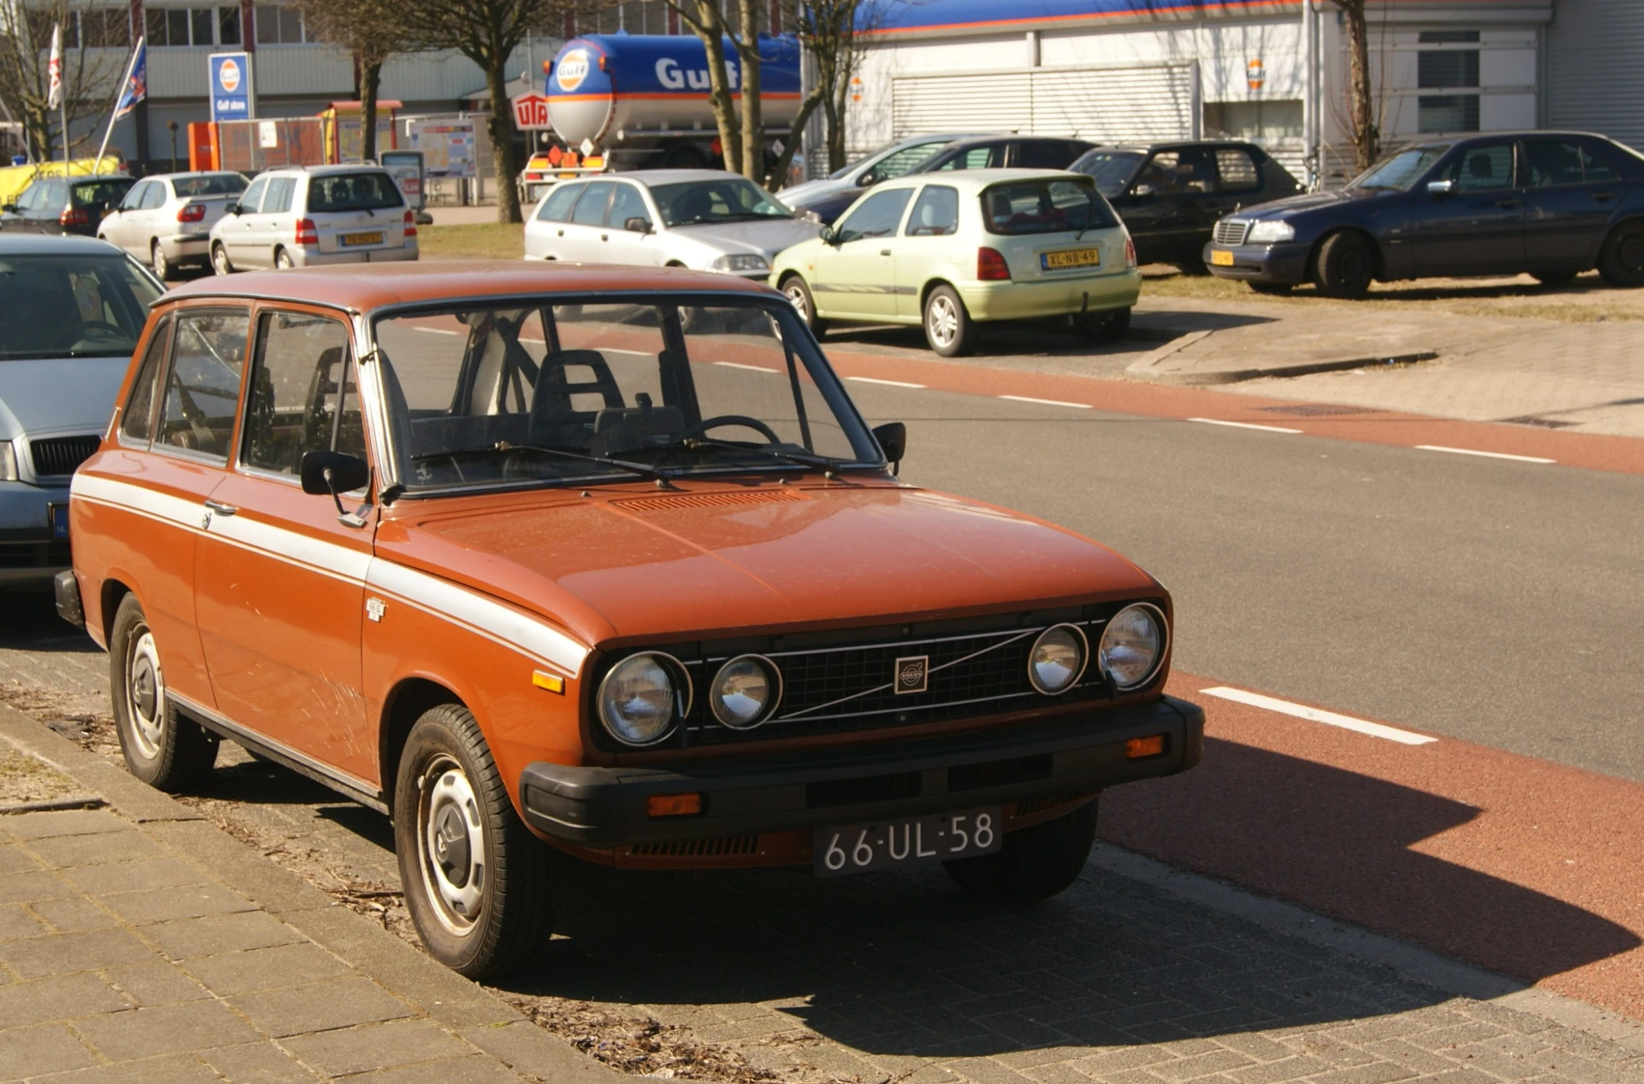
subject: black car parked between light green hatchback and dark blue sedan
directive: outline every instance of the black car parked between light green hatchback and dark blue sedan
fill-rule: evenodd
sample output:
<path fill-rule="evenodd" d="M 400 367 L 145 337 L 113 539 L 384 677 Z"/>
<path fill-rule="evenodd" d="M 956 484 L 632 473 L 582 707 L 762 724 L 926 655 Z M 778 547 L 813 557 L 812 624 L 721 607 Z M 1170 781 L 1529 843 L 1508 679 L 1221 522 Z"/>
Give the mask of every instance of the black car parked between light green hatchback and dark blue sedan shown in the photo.
<path fill-rule="evenodd" d="M 1136 242 L 1138 263 L 1189 273 L 1203 273 L 1217 219 L 1302 191 L 1259 146 L 1226 140 L 1098 146 L 1069 169 L 1097 179 Z"/>

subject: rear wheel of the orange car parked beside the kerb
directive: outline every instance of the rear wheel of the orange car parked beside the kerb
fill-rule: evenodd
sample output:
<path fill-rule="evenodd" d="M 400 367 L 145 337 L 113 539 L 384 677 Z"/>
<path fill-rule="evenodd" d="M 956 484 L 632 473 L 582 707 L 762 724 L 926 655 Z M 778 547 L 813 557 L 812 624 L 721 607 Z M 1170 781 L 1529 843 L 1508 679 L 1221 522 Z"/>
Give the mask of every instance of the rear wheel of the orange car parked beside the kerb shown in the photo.
<path fill-rule="evenodd" d="M 132 775 L 176 793 L 197 783 L 217 763 L 217 735 L 184 719 L 166 696 L 159 645 L 143 604 L 125 595 L 109 637 L 109 684 L 120 752 Z"/>

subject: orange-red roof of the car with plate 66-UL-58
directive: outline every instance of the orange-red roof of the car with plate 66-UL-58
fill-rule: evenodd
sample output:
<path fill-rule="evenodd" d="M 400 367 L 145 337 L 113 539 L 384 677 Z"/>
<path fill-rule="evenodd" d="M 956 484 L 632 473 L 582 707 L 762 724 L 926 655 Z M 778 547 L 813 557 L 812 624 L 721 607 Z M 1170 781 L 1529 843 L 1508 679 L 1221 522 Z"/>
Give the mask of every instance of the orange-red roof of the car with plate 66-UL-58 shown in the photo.
<path fill-rule="evenodd" d="M 5 235 L 0 234 L 0 237 Z M 562 263 L 559 260 L 475 260 L 462 263 L 347 263 L 207 276 L 178 286 L 161 298 L 159 304 L 191 298 L 233 298 L 293 301 L 370 313 L 398 304 L 635 291 L 774 296 L 769 286 L 718 271 Z"/>

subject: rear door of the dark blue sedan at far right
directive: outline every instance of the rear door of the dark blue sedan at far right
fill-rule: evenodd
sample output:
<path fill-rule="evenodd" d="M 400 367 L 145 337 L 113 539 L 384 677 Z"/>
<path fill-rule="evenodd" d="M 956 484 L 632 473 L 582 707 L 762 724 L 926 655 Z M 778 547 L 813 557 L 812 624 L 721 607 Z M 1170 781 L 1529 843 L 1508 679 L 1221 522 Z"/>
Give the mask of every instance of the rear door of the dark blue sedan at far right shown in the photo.
<path fill-rule="evenodd" d="M 1593 266 L 1609 215 L 1626 196 L 1626 181 L 1578 137 L 1526 137 L 1519 153 L 1526 266 L 1547 271 Z"/>

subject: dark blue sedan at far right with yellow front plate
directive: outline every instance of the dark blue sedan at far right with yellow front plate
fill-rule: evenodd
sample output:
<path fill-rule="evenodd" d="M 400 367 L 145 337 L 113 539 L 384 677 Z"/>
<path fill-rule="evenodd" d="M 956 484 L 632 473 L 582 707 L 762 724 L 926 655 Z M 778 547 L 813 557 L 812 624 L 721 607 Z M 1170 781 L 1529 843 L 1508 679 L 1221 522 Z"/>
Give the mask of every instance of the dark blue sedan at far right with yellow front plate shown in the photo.
<path fill-rule="evenodd" d="M 1593 266 L 1644 286 L 1644 156 L 1583 132 L 1504 132 L 1406 146 L 1345 189 L 1220 219 L 1205 263 L 1259 293 L 1314 283 L 1361 298 L 1373 280 Z"/>

